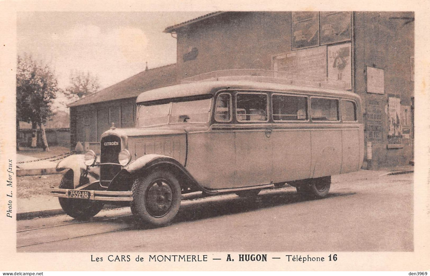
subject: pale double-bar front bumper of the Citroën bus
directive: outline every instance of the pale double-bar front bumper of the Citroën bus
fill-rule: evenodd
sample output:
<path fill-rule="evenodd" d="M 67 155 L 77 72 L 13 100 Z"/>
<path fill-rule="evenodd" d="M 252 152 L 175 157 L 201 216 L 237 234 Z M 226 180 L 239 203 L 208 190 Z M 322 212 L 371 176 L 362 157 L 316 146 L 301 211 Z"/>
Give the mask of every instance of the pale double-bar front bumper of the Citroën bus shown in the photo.
<path fill-rule="evenodd" d="M 65 197 L 65 198 L 73 198 L 69 197 L 69 191 L 77 191 L 74 189 L 59 189 L 55 188 L 51 190 L 51 194 L 54 197 Z M 94 191 L 94 190 L 79 190 L 81 192 L 89 192 L 89 199 L 83 200 L 101 200 L 101 201 L 132 201 L 132 191 Z"/>

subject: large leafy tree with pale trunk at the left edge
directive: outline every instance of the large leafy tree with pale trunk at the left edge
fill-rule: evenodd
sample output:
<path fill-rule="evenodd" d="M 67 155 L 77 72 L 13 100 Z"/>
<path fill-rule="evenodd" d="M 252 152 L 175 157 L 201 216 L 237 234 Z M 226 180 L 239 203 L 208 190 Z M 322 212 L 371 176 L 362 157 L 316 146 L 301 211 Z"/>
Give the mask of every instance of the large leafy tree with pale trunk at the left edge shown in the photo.
<path fill-rule="evenodd" d="M 44 124 L 52 115 L 51 104 L 60 91 L 57 79 L 48 64 L 35 61 L 31 56 L 18 55 L 16 72 L 16 117 L 31 122 L 33 134 L 31 147 L 37 146 L 37 126 L 42 133 L 43 148 L 49 151 Z"/>

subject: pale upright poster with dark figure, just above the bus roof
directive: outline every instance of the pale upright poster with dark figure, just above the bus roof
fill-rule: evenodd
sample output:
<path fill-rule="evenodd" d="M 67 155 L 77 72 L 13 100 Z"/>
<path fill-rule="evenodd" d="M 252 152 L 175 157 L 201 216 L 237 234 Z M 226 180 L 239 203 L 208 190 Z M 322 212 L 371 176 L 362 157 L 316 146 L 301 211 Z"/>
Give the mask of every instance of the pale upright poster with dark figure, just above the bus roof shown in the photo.
<path fill-rule="evenodd" d="M 327 62 L 328 78 L 343 81 L 351 89 L 351 43 L 328 46 Z"/>

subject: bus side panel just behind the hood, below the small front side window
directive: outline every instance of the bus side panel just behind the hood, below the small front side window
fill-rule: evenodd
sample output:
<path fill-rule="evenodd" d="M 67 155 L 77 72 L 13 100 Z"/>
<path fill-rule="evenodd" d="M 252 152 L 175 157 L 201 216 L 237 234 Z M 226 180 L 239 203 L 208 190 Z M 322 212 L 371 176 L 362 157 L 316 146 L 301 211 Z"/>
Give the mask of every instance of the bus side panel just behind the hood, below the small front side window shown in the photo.
<path fill-rule="evenodd" d="M 232 188 L 235 175 L 234 132 L 188 134 L 186 169 L 205 188 Z"/>

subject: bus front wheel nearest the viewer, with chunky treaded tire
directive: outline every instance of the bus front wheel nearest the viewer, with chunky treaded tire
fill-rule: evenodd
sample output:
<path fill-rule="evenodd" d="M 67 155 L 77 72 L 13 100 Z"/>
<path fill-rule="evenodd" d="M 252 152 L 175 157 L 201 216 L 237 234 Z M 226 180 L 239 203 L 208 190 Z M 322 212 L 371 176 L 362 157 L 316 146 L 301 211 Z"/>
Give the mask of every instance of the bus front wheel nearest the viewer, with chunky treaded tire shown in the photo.
<path fill-rule="evenodd" d="M 169 225 L 181 206 L 181 186 L 168 170 L 153 170 L 132 185 L 132 214 L 139 223 Z"/>

